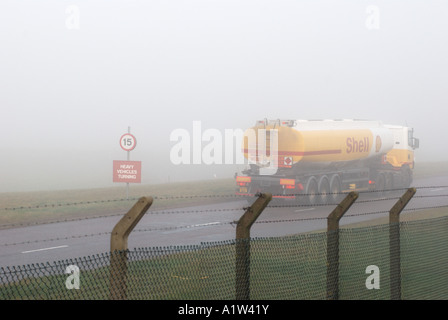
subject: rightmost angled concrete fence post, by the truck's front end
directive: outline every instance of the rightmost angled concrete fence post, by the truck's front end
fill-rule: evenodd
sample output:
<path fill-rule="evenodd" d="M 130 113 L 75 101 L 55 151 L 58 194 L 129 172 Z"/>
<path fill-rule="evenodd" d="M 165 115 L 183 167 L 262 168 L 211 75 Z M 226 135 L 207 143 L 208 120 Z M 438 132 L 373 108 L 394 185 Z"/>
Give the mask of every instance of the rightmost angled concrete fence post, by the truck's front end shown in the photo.
<path fill-rule="evenodd" d="M 400 213 L 416 192 L 415 188 L 409 188 L 389 211 L 391 300 L 401 300 Z"/>

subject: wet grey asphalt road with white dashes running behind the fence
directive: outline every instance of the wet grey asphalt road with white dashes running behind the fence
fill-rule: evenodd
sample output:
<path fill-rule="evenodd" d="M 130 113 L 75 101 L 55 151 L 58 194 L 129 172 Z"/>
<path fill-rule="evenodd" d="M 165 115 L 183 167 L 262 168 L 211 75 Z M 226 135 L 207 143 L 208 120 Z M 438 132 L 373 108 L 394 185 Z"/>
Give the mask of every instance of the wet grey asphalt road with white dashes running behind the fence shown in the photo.
<path fill-rule="evenodd" d="M 418 191 L 406 209 L 448 205 L 448 197 L 431 197 L 448 195 L 448 176 L 415 180 L 413 185 Z M 378 198 L 372 194 L 362 194 L 341 224 L 387 216 L 400 194 L 393 196 L 394 199 L 377 201 Z M 131 233 L 129 249 L 234 239 L 235 225 L 231 222 L 237 221 L 247 206 L 246 201 L 233 199 L 218 204 L 173 209 L 169 213 L 166 213 L 168 210 L 150 209 Z M 275 237 L 324 230 L 327 224 L 325 218 L 334 207 L 271 203 L 253 225 L 251 236 Z M 381 211 L 386 213 L 362 215 Z M 120 218 L 112 216 L 1 230 L 0 267 L 46 263 L 108 252 L 110 232 Z"/>

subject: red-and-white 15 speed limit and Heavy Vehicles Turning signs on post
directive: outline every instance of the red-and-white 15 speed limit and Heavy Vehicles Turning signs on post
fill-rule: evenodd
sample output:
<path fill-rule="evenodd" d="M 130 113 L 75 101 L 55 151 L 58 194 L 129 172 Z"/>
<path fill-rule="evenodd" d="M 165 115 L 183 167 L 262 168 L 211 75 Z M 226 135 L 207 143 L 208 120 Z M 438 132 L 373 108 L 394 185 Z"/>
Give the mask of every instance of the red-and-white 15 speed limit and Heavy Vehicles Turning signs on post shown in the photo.
<path fill-rule="evenodd" d="M 128 127 L 128 133 L 120 138 L 120 147 L 127 152 L 127 161 L 114 160 L 114 182 L 126 182 L 126 200 L 129 200 L 129 182 L 140 183 L 141 181 L 141 162 L 130 161 L 130 152 L 137 145 L 137 139 L 131 134 L 131 127 Z"/>

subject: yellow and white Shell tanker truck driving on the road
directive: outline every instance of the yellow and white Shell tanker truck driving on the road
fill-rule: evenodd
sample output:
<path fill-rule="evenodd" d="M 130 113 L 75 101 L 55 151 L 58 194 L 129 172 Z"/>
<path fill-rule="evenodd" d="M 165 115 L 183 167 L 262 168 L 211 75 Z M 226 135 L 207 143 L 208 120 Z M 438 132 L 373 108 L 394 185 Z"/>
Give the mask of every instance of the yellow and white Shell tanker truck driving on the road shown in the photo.
<path fill-rule="evenodd" d="M 242 143 L 249 167 L 236 194 L 335 203 L 353 190 L 385 191 L 412 182 L 413 129 L 369 120 L 261 120 Z"/>

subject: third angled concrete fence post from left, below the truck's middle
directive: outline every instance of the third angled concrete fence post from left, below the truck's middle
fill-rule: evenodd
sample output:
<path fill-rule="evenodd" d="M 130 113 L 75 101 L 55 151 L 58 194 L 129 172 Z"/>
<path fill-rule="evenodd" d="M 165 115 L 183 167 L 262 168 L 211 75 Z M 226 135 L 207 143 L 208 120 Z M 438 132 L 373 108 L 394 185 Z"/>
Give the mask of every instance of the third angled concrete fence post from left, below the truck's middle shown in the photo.
<path fill-rule="evenodd" d="M 350 192 L 327 218 L 327 300 L 339 298 L 339 220 L 358 199 Z"/>

